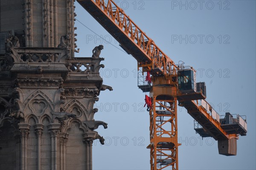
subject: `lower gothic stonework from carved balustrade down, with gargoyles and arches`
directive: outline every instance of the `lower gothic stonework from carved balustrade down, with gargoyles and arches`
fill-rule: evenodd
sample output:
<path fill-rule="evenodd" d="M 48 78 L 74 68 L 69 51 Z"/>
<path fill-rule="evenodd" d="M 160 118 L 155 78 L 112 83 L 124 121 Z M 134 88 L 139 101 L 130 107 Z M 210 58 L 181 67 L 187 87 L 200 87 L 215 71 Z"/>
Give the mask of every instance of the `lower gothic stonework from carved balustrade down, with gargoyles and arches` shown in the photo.
<path fill-rule="evenodd" d="M 93 140 L 104 144 L 95 129 L 107 128 L 93 105 L 112 88 L 102 85 L 103 58 L 69 52 L 16 47 L 0 58 L 9 64 L 0 71 L 0 136 L 14 141 L 0 144 L 4 169 L 92 170 Z"/>

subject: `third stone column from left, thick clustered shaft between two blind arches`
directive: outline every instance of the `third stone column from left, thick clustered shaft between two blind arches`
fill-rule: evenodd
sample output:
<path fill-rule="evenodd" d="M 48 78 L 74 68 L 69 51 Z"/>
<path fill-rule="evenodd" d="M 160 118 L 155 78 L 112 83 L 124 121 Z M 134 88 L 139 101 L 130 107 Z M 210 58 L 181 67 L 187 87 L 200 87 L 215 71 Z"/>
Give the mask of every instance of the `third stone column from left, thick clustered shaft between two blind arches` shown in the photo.
<path fill-rule="evenodd" d="M 59 128 L 59 123 L 52 123 L 48 126 L 51 134 L 51 170 L 57 170 L 57 136 Z"/>

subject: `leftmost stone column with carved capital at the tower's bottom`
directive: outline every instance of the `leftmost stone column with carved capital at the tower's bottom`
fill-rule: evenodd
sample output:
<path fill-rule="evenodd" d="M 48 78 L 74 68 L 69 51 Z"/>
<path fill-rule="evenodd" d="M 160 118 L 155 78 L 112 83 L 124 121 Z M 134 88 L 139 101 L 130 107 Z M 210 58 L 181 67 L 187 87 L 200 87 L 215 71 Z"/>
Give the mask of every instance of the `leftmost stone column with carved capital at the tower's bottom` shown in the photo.
<path fill-rule="evenodd" d="M 20 130 L 20 170 L 27 169 L 27 137 L 30 125 L 18 124 Z"/>

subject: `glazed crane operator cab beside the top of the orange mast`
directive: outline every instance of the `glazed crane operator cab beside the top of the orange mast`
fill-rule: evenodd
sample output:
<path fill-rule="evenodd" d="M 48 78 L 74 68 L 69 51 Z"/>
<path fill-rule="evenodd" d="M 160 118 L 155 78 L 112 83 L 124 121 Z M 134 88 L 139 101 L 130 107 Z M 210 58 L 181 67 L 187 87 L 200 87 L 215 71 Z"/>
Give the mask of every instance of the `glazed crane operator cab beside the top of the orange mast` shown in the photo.
<path fill-rule="evenodd" d="M 204 82 L 195 81 L 196 71 L 192 67 L 179 67 L 178 88 L 180 90 L 179 100 L 198 100 L 206 98 L 206 86 Z"/>

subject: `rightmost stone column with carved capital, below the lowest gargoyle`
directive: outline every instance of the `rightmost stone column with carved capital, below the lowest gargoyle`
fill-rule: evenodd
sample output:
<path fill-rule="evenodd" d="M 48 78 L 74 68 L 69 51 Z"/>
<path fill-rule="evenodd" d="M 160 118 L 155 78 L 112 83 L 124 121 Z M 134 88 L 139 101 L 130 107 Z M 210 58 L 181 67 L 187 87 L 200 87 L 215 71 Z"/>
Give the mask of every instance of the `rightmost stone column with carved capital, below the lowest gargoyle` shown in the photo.
<path fill-rule="evenodd" d="M 84 138 L 84 143 L 86 145 L 86 169 L 93 170 L 93 138 Z"/>

